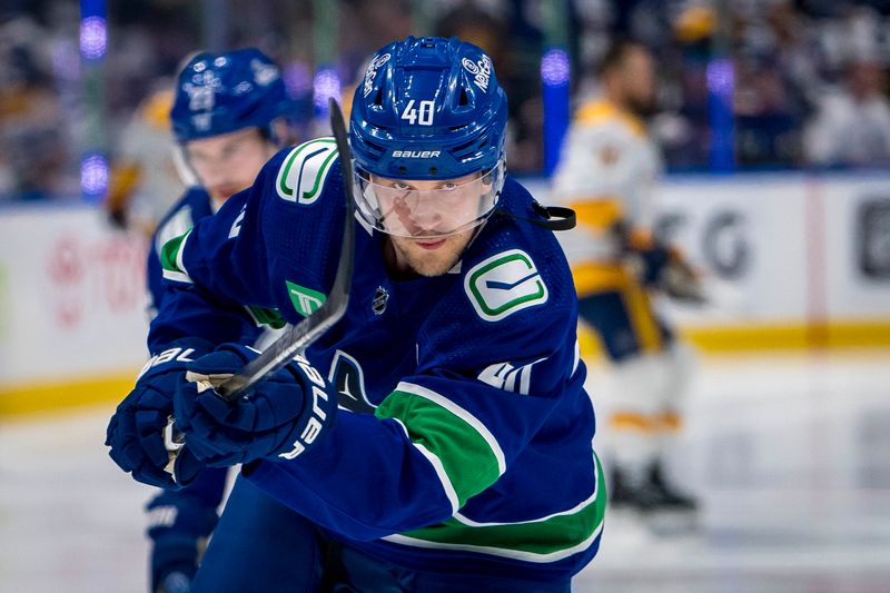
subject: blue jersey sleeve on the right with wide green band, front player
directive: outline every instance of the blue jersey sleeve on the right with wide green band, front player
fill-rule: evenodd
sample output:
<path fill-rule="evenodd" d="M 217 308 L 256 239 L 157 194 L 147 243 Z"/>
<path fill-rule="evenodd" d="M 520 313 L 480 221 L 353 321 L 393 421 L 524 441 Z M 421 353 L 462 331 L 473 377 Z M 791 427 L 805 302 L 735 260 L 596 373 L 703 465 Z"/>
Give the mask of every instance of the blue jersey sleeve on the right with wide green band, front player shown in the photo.
<path fill-rule="evenodd" d="M 476 281 L 518 286 L 507 300 L 487 295 L 484 305 L 500 310 L 473 306 L 465 283 L 454 288 L 418 335 L 416 370 L 374 417 L 342 409 L 315 449 L 289 462 L 256 462 L 247 477 L 354 540 L 429 527 L 492 487 L 562 403 L 566 385 L 583 382 L 564 260 L 554 284 L 546 259 L 513 255 L 471 270 L 483 270 Z M 492 274 L 498 265 L 508 269 Z"/>

